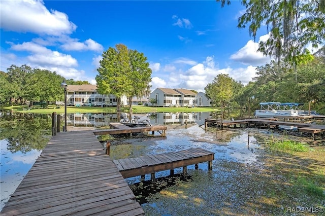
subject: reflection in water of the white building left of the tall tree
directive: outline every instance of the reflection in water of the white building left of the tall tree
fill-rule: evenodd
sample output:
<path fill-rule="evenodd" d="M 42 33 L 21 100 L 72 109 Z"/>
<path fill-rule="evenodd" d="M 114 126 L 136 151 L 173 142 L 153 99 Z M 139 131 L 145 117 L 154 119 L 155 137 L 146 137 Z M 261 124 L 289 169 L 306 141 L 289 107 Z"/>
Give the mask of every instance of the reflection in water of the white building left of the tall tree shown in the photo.
<path fill-rule="evenodd" d="M 108 113 L 76 113 L 67 115 L 67 124 L 72 126 L 99 127 L 116 122 L 117 115 Z"/>

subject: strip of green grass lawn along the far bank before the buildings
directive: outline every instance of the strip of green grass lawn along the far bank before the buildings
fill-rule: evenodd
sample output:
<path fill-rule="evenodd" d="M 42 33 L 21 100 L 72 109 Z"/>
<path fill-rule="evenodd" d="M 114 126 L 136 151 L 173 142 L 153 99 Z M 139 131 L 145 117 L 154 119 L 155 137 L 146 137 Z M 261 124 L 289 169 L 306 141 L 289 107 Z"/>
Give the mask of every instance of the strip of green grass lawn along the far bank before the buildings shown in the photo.
<path fill-rule="evenodd" d="M 12 105 L 12 106 L 4 106 L 4 109 L 12 110 L 14 112 L 22 112 L 22 113 L 39 113 L 39 114 L 50 114 L 53 112 L 56 113 L 64 113 L 64 106 L 55 106 L 49 105 L 48 109 L 44 109 L 43 107 L 36 105 L 29 108 L 28 106 L 22 105 Z M 153 107 L 153 106 L 143 106 L 143 105 L 134 105 L 132 106 L 133 113 L 177 113 L 177 112 L 213 112 L 216 109 L 212 107 Z M 129 109 L 127 107 L 122 107 L 121 112 L 128 113 Z M 89 106 L 67 106 L 67 113 L 116 113 L 116 107 L 89 107 Z"/>

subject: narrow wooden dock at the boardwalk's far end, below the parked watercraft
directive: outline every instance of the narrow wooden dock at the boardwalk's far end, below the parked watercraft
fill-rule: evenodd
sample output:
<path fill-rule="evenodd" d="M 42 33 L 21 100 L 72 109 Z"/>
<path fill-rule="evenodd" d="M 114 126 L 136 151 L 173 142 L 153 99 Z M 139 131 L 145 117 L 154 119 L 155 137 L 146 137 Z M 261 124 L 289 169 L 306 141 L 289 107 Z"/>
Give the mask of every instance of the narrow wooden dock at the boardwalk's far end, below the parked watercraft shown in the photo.
<path fill-rule="evenodd" d="M 148 127 L 128 127 L 121 123 L 110 123 L 110 127 L 113 129 L 106 129 L 106 130 L 93 130 L 95 135 L 106 135 L 106 134 L 128 134 L 132 135 L 132 133 L 140 133 L 140 132 L 147 132 L 151 131 L 154 134 L 154 131 L 158 131 L 161 135 L 166 135 L 167 126 L 163 125 L 153 125 Z M 161 132 L 160 132 L 161 131 Z"/>

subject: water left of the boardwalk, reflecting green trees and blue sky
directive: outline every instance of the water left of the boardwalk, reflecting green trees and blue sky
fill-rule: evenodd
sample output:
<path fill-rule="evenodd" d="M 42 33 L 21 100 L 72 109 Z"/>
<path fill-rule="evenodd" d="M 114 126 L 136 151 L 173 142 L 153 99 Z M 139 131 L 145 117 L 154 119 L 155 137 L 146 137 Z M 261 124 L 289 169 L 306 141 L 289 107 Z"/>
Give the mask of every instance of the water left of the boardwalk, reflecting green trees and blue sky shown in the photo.
<path fill-rule="evenodd" d="M 51 123 L 50 115 L 0 113 L 1 209 L 50 139 Z"/>

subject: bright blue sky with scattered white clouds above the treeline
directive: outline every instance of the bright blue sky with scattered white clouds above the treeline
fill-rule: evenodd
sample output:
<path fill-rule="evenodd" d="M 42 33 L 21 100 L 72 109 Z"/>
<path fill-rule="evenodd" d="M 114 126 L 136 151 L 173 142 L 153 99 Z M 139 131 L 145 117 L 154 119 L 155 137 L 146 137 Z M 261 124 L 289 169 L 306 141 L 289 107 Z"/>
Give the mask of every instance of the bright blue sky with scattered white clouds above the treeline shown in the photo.
<path fill-rule="evenodd" d="M 269 62 L 238 29 L 240 1 L 2 0 L 1 65 L 45 68 L 95 84 L 103 51 L 116 44 L 144 53 L 157 87 L 204 91 L 218 74 L 247 84 Z"/>

